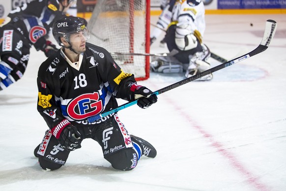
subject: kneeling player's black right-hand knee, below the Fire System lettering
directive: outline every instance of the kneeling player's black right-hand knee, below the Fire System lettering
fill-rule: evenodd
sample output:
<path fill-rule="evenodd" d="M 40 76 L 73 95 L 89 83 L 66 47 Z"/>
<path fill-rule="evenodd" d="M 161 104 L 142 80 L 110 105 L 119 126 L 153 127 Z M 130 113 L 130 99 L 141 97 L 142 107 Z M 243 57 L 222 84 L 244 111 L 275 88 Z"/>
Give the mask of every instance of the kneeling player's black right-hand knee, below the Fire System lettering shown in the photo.
<path fill-rule="evenodd" d="M 138 156 L 133 148 L 127 148 L 105 156 L 105 159 L 117 170 L 132 170 L 137 165 Z"/>

